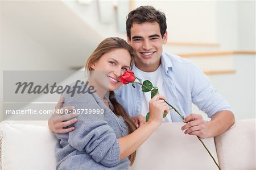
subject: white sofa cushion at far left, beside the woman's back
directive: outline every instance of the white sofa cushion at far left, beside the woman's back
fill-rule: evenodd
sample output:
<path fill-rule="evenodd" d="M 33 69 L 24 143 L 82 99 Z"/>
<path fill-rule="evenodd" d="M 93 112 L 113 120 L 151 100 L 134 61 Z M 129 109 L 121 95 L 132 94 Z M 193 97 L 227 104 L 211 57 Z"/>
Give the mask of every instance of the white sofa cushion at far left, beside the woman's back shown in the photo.
<path fill-rule="evenodd" d="M 56 138 L 47 127 L 2 122 L 3 170 L 55 169 Z"/>

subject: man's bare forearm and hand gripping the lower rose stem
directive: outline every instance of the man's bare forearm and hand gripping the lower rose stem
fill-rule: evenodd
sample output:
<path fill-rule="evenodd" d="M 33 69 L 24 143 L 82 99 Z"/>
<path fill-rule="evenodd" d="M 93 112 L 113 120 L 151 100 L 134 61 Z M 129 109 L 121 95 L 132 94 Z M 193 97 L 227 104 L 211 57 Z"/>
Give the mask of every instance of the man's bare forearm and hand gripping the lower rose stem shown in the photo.
<path fill-rule="evenodd" d="M 185 134 L 211 138 L 228 130 L 234 124 L 234 120 L 234 114 L 229 110 L 219 111 L 209 122 L 205 122 L 200 114 L 189 114 L 183 121 L 187 124 L 182 126 L 181 130 L 185 130 Z"/>

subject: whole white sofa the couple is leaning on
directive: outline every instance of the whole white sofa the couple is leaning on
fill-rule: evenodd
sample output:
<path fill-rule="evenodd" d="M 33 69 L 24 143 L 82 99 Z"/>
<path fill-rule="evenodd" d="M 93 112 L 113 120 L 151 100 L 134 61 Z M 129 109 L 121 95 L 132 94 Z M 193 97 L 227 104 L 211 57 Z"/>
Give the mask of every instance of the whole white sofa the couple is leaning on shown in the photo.
<path fill-rule="evenodd" d="M 130 169 L 218 169 L 196 136 L 184 135 L 183 123 L 163 123 L 139 148 Z M 55 136 L 46 121 L 0 123 L 3 170 L 55 169 Z M 237 121 L 224 134 L 204 139 L 221 169 L 255 168 L 255 119 Z"/>

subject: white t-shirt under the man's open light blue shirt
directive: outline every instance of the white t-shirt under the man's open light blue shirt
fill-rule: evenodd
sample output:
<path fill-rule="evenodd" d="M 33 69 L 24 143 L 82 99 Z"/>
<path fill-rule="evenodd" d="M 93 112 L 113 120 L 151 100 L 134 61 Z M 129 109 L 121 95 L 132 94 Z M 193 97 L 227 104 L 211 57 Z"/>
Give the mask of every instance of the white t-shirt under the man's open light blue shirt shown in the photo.
<path fill-rule="evenodd" d="M 149 80 L 152 82 L 153 86 L 157 86 L 159 89 L 159 94 L 166 96 L 163 88 L 163 76 L 162 76 L 162 69 L 159 66 L 158 69 L 154 72 L 143 72 L 137 67 L 134 66 L 134 71 L 136 72 L 136 76 L 141 78 L 142 81 Z M 142 99 L 142 109 L 141 114 L 146 117 L 149 111 L 149 101 L 151 99 L 151 92 L 143 93 Z M 171 115 L 167 114 L 165 118 L 163 118 L 163 122 L 172 122 Z"/>

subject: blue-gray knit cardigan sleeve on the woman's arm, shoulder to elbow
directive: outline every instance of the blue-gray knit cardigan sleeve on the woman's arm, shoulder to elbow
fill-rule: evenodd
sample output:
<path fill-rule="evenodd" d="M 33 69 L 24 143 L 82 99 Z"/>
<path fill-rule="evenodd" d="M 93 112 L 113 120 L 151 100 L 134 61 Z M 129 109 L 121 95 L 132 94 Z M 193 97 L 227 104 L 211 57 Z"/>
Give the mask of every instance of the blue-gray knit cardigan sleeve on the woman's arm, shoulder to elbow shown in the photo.
<path fill-rule="evenodd" d="M 75 106 L 77 109 L 102 109 L 92 94 L 64 96 L 63 106 Z M 106 107 L 105 107 L 106 108 Z M 81 110 L 80 110 L 81 111 Z M 75 130 L 69 132 L 68 143 L 76 150 L 85 151 L 97 163 L 105 167 L 114 167 L 119 163 L 119 143 L 112 127 L 105 121 L 104 114 L 80 113 Z"/>

